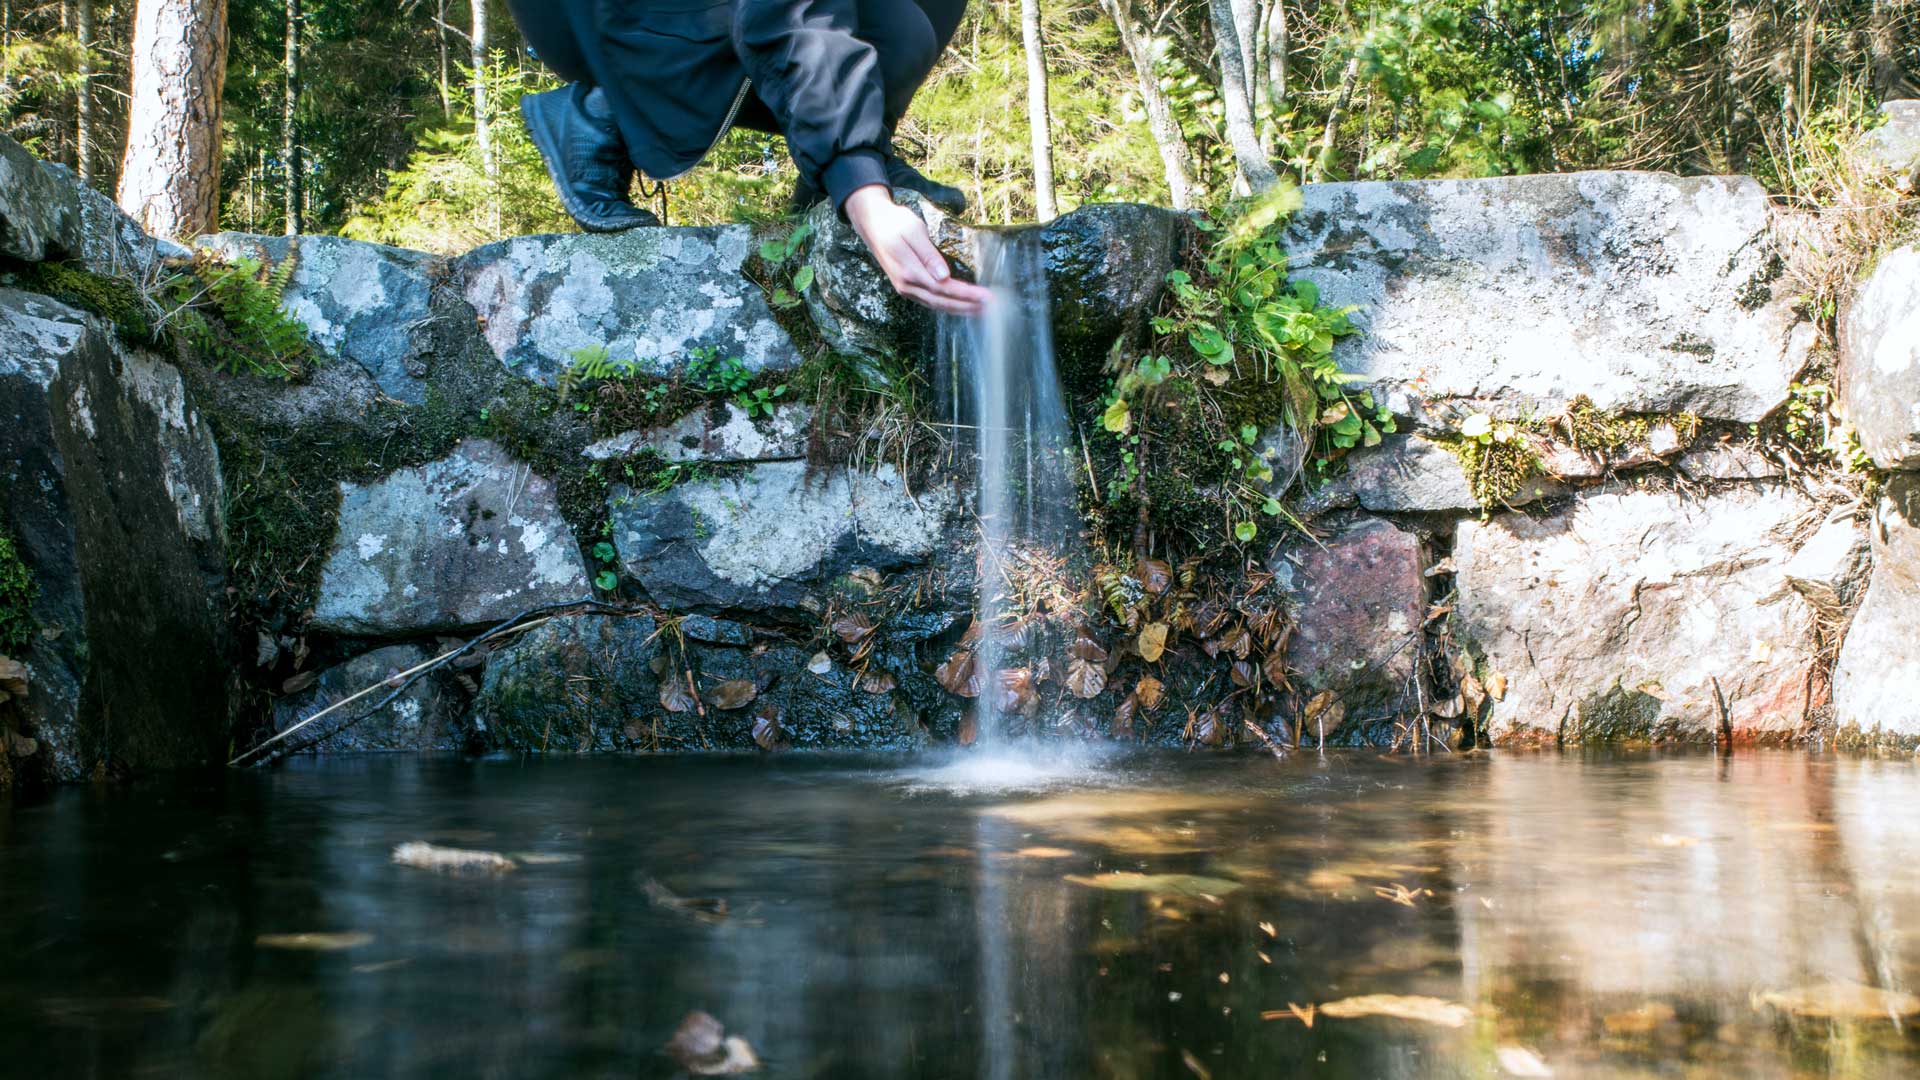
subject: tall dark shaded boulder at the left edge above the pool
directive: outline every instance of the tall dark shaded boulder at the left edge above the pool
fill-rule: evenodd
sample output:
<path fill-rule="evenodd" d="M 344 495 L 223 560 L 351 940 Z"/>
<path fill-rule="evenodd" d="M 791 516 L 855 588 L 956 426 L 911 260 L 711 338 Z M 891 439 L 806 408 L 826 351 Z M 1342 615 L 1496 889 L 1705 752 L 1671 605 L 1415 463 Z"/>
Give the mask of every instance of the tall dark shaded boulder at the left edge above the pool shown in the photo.
<path fill-rule="evenodd" d="M 213 434 L 179 371 L 0 288 L 0 528 L 36 586 L 15 773 L 204 763 L 232 700 Z"/>

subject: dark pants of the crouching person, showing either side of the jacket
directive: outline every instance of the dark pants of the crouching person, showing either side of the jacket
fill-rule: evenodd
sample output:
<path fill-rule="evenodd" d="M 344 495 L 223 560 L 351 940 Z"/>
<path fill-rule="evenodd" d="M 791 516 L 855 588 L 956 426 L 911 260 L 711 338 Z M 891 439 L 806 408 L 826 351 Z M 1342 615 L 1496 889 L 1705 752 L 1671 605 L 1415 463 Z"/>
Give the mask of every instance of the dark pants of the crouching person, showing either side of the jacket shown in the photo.
<path fill-rule="evenodd" d="M 520 35 L 541 63 L 568 83 L 593 83 L 580 42 L 564 21 L 549 15 L 549 2 L 513 0 L 509 6 L 520 25 Z M 906 115 L 920 85 L 927 81 L 933 65 L 947 52 L 947 42 L 960 29 L 964 13 L 966 0 L 860 0 L 858 37 L 872 44 L 879 58 L 889 131 Z M 755 94 L 749 94 L 741 104 L 733 123 L 780 135 L 774 111 Z"/>

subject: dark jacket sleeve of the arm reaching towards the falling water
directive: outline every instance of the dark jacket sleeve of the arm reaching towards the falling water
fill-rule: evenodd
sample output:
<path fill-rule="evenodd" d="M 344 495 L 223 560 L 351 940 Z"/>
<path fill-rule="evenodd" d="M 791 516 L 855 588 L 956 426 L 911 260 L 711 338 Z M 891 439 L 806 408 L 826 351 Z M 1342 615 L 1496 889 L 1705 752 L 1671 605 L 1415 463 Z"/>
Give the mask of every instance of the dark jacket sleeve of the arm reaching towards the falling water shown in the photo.
<path fill-rule="evenodd" d="M 856 0 L 735 0 L 733 48 L 801 177 L 839 208 L 887 183 L 885 92 Z"/>

